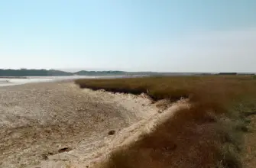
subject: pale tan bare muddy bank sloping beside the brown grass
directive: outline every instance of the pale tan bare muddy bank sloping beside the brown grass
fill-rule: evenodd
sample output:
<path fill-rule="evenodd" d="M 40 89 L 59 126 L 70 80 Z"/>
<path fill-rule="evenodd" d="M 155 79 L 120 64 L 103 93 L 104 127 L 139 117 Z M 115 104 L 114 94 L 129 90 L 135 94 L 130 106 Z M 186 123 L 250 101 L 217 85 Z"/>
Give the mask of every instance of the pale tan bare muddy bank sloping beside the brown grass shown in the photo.
<path fill-rule="evenodd" d="M 0 167 L 92 166 L 183 106 L 159 114 L 144 95 L 82 90 L 72 82 L 2 87 Z M 70 150 L 60 153 L 64 147 Z"/>

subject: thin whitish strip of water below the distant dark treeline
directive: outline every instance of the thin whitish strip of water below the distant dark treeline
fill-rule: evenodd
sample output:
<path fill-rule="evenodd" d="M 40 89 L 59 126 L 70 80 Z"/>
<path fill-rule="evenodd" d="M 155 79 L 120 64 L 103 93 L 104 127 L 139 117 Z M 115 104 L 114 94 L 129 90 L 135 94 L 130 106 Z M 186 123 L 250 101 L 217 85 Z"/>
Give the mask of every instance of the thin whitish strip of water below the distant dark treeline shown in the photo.
<path fill-rule="evenodd" d="M 15 86 L 22 85 L 31 82 L 54 82 L 67 79 L 115 79 L 115 78 L 128 78 L 136 76 L 28 76 L 24 79 L 10 79 L 10 78 L 0 78 L 1 86 Z"/>

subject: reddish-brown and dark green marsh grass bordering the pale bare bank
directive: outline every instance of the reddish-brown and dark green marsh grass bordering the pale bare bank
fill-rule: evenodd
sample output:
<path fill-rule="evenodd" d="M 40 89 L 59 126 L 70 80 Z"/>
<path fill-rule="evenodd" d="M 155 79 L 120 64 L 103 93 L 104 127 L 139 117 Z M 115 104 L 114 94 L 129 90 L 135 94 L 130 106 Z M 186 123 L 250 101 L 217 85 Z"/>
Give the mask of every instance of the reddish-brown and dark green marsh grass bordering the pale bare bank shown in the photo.
<path fill-rule="evenodd" d="M 190 99 L 190 108 L 139 141 L 112 153 L 104 168 L 240 168 L 248 114 L 256 111 L 251 76 L 173 76 L 137 79 L 78 79 L 81 88 L 142 92 L 155 101 Z"/>

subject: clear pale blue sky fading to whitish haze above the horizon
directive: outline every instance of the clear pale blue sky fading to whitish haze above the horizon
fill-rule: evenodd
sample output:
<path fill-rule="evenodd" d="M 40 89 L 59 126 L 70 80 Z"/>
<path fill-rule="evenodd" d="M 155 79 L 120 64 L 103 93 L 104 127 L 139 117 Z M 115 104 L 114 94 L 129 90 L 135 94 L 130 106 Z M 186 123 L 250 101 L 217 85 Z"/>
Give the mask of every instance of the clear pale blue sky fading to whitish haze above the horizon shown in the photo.
<path fill-rule="evenodd" d="M 256 73 L 255 0 L 0 1 L 0 69 Z"/>

